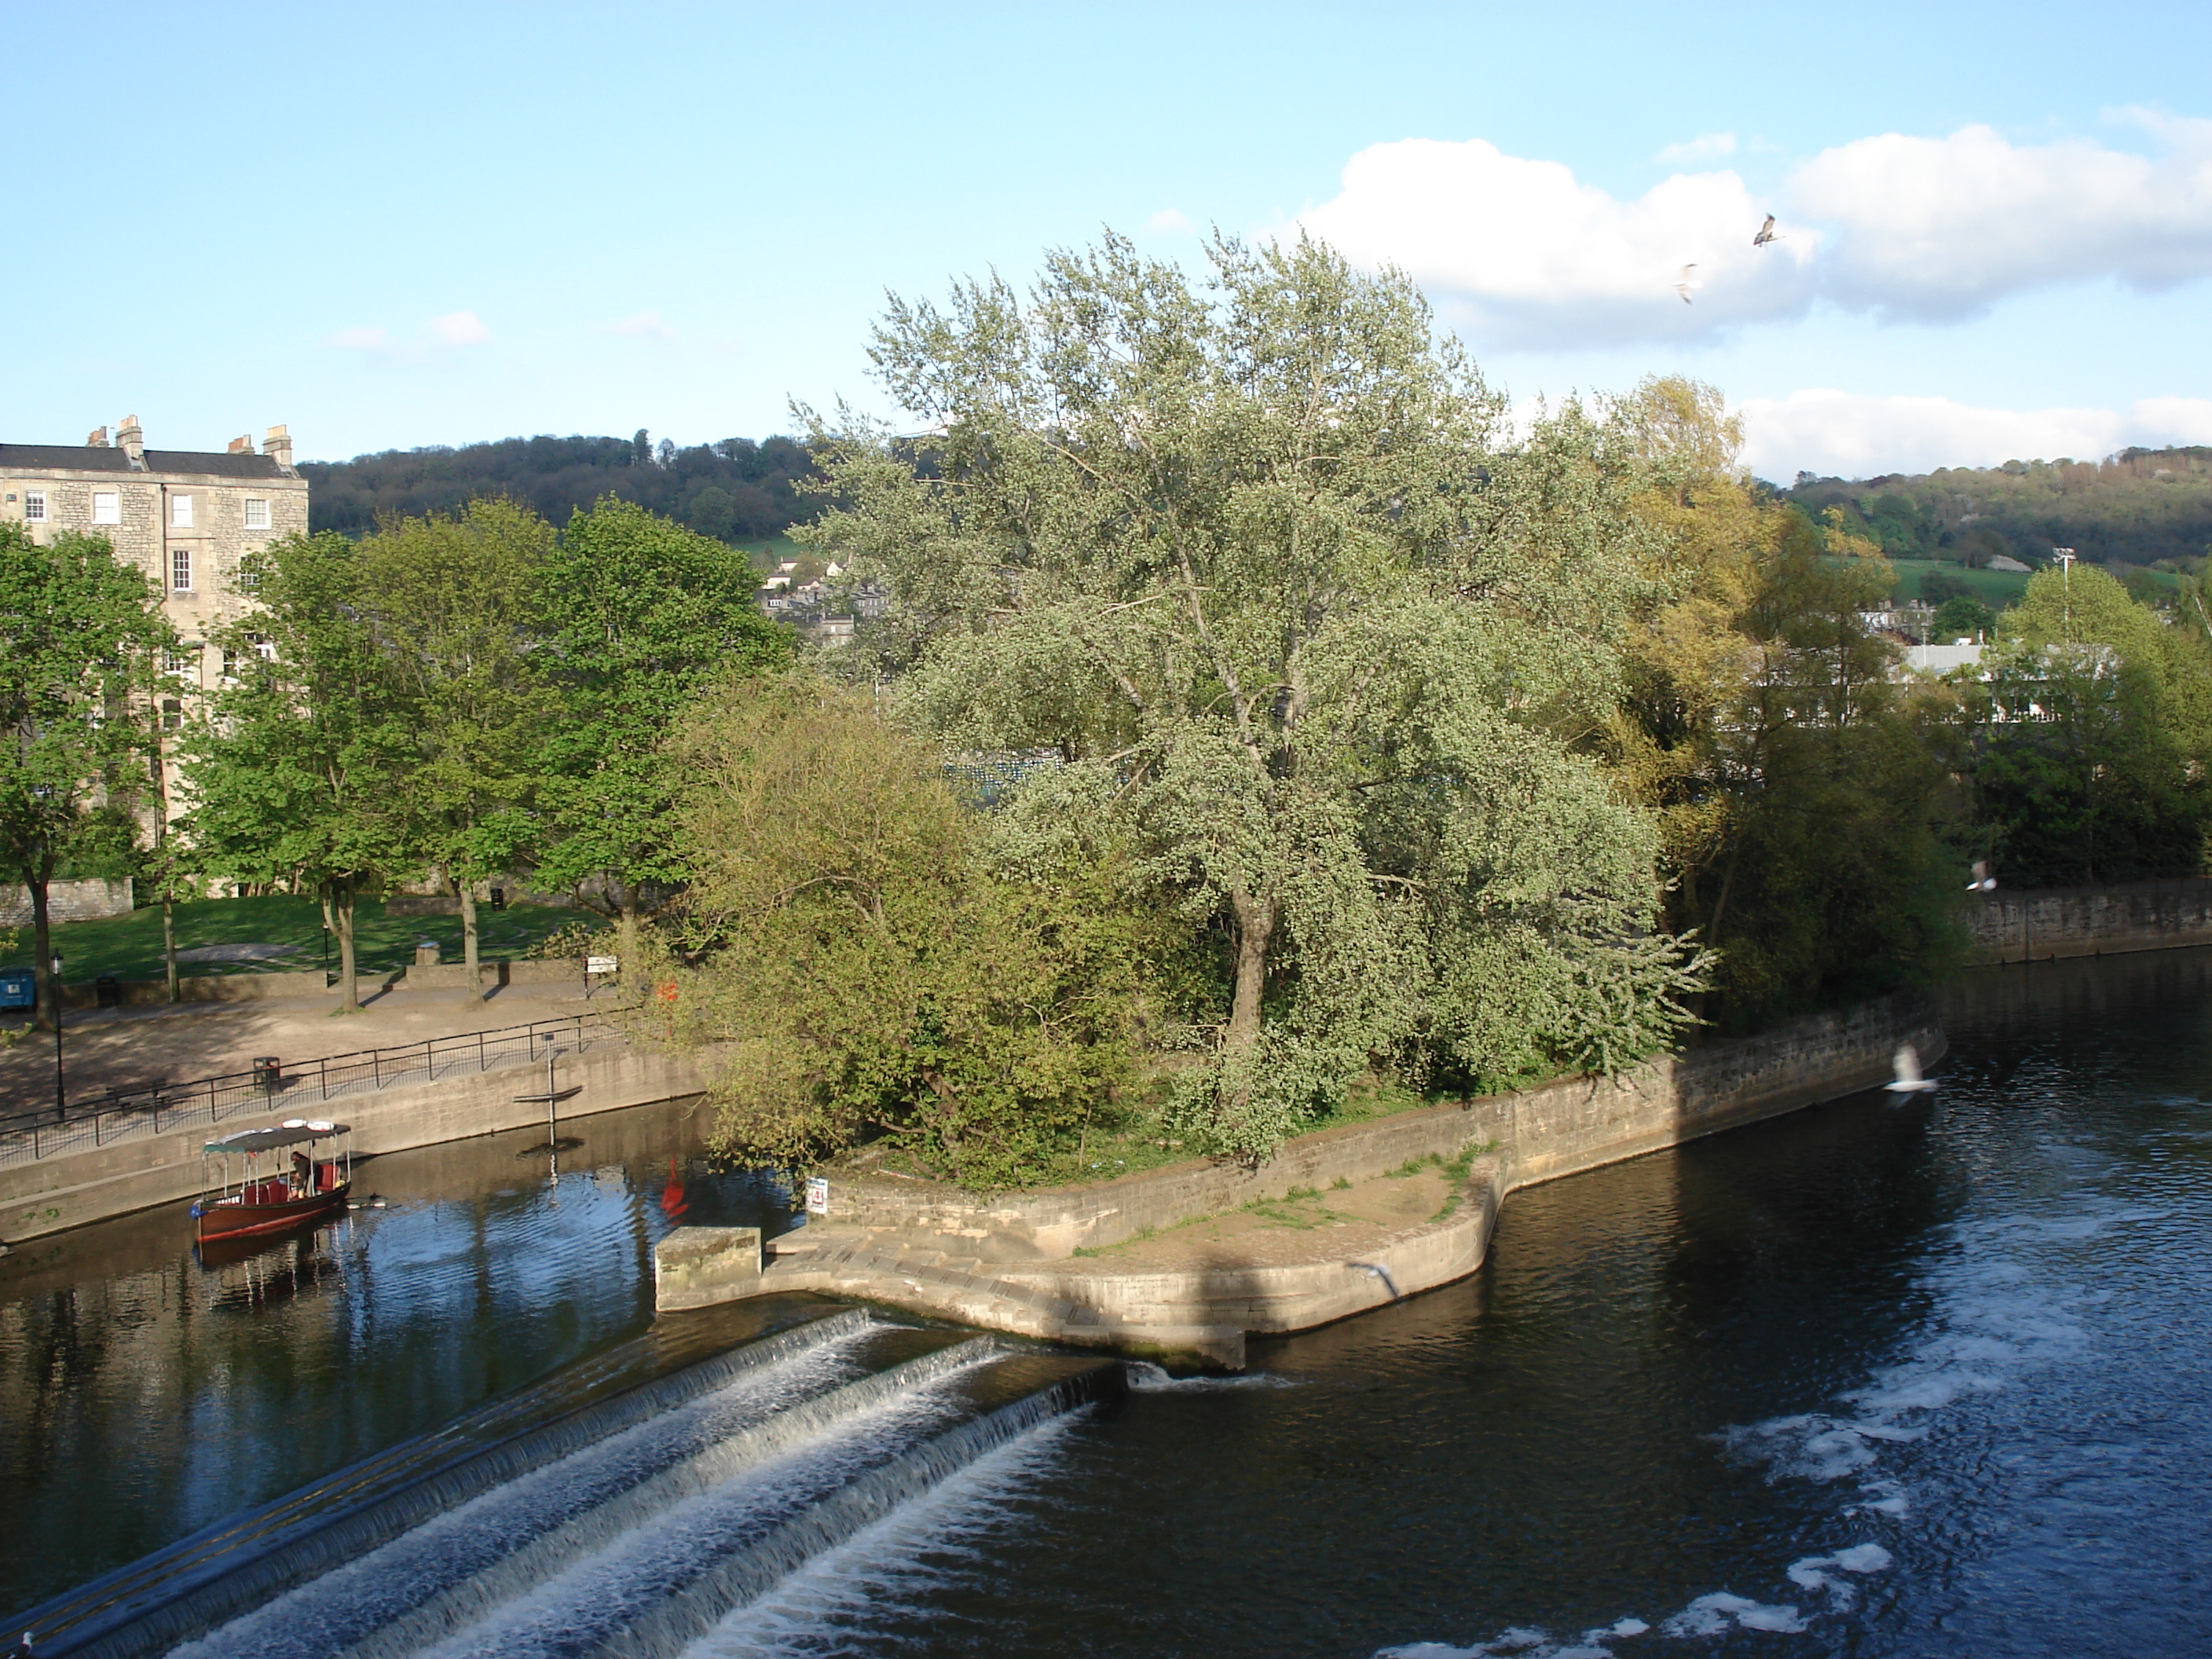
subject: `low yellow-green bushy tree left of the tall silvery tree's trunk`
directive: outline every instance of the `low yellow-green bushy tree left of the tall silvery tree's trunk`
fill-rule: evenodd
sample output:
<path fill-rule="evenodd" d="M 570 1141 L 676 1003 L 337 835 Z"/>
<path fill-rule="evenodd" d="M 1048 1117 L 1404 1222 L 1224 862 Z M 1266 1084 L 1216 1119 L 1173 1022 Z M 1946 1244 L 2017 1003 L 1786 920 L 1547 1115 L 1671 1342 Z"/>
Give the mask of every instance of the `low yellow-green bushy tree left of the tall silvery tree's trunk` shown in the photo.
<path fill-rule="evenodd" d="M 672 748 L 686 1037 L 723 1144 L 887 1135 L 971 1186 L 1035 1179 L 1126 1075 L 1172 922 L 1119 905 L 1095 845 L 989 869 L 933 745 L 865 695 L 719 688 Z"/>

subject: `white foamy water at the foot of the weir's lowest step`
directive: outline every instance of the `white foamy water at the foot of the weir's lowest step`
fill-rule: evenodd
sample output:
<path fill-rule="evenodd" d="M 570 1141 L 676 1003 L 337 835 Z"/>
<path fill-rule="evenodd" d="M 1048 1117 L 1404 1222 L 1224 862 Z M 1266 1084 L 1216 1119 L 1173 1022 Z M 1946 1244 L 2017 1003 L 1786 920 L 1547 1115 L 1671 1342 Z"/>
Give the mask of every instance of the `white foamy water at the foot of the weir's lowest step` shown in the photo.
<path fill-rule="evenodd" d="M 989 1588 L 978 1540 L 1015 1520 L 1009 1500 L 1048 1473 L 1088 1411 L 1046 1418 L 991 1449 L 925 1498 L 860 1528 L 748 1601 L 684 1650 L 684 1659 L 785 1659 L 843 1652 L 856 1624 L 947 1588 Z M 929 1557 L 927 1562 L 922 1557 Z"/>

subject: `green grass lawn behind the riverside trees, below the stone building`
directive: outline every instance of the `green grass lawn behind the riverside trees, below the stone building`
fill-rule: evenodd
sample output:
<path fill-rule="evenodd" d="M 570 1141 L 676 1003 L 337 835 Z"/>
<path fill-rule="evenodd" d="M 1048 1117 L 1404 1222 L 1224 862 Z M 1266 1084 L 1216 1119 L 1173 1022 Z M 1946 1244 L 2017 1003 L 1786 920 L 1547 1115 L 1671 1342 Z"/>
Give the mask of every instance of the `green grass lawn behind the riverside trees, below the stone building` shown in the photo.
<path fill-rule="evenodd" d="M 515 960 L 531 945 L 564 927 L 588 920 L 586 911 L 551 905 L 511 905 L 476 914 L 476 945 L 487 962 Z M 436 940 L 447 962 L 460 960 L 458 916 L 385 916 L 383 900 L 354 909 L 354 949 L 361 971 L 396 969 L 414 962 L 414 949 Z M 115 975 L 117 980 L 161 978 L 161 907 L 148 905 L 100 922 L 62 922 L 53 929 L 62 951 L 62 978 L 71 984 Z M 312 898 L 201 898 L 177 905 L 177 949 L 195 945 L 294 945 L 299 949 L 261 962 L 179 962 L 179 973 L 270 973 L 323 964 L 323 907 Z M 332 969 L 338 945 L 330 947 Z M 0 967 L 31 967 L 31 929 L 15 929 L 15 947 L 0 953 Z"/>

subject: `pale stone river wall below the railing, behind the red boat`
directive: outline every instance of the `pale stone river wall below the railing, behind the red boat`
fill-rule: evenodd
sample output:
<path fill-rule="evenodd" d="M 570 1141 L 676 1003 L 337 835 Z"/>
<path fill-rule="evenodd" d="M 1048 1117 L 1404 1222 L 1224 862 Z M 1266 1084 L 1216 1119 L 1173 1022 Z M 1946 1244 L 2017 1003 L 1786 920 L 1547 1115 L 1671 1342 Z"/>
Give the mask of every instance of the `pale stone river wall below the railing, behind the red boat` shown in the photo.
<path fill-rule="evenodd" d="M 447 1077 L 436 1084 L 387 1088 L 374 1095 L 343 1095 L 327 1104 L 312 1095 L 270 1102 L 268 1119 L 334 1117 L 354 1128 L 354 1157 L 405 1152 L 436 1141 L 498 1135 L 546 1121 L 542 1104 L 520 1104 L 515 1095 L 544 1088 L 542 1062 L 518 1062 L 491 1071 Z M 588 1117 L 624 1106 L 650 1106 L 699 1093 L 690 1064 L 661 1053 L 611 1042 L 564 1055 L 557 1086 L 580 1093 L 560 1104 L 560 1117 Z M 210 1128 L 181 1117 L 175 1130 L 113 1139 L 93 1150 L 0 1164 L 0 1241 L 22 1243 L 49 1232 L 146 1210 L 199 1194 L 199 1148 L 210 1135 L 250 1128 L 254 1119 L 226 1119 Z M 374 1186 L 374 1166 L 356 1177 Z"/>

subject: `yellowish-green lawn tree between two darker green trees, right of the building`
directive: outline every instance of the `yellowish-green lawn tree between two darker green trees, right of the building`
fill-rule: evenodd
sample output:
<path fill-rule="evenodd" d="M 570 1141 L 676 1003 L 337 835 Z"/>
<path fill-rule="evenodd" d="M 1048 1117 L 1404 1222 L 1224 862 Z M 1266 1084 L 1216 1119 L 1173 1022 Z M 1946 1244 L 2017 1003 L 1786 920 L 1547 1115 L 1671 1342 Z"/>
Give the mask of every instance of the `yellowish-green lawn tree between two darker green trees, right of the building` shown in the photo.
<path fill-rule="evenodd" d="M 551 557 L 553 526 L 504 500 L 385 520 L 358 553 L 361 591 L 418 745 L 405 794 L 420 858 L 460 894 L 471 984 L 476 887 L 509 869 L 535 830 L 549 695 L 531 630 Z"/>

